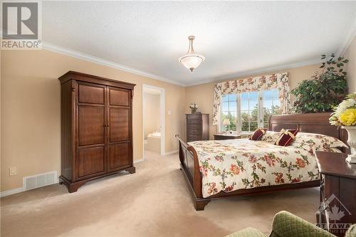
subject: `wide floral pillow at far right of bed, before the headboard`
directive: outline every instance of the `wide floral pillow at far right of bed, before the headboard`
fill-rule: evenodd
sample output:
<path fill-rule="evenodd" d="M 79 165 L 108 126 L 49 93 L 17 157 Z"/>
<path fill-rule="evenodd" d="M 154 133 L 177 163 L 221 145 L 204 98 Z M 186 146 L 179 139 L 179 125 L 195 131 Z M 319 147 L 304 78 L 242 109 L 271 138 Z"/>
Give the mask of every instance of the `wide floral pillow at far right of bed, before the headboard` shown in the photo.
<path fill-rule="evenodd" d="M 310 153 L 315 151 L 335 152 L 333 148 L 347 148 L 347 145 L 336 137 L 309 132 L 299 132 L 292 145 Z"/>

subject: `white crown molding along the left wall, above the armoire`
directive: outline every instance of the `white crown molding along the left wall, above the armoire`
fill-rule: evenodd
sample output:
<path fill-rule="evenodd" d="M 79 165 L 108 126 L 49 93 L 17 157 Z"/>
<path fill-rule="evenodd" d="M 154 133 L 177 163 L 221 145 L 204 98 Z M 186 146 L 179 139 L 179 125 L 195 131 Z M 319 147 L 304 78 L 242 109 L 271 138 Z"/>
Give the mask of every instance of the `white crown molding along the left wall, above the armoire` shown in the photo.
<path fill-rule="evenodd" d="M 146 73 L 142 70 L 138 70 L 136 68 L 131 68 L 131 67 L 128 67 L 128 66 L 125 66 L 125 65 L 122 65 L 122 64 L 119 64 L 119 63 L 115 63 L 115 62 L 112 62 L 111 60 L 106 60 L 104 58 L 98 58 L 98 57 L 95 57 L 95 56 L 91 56 L 87 53 L 82 53 L 82 52 L 79 52 L 79 51 L 74 51 L 72 49 L 69 49 L 69 48 L 64 48 L 62 46 L 58 46 L 56 44 L 53 44 L 53 43 L 49 43 L 49 42 L 46 42 L 46 41 L 43 41 L 42 43 L 42 48 L 43 49 L 46 49 L 48 51 L 52 51 L 52 52 L 56 52 L 56 53 L 61 53 L 63 55 L 66 55 L 66 56 L 70 56 L 70 57 L 73 57 L 73 58 L 79 58 L 79 59 L 82 59 L 82 60 L 86 60 L 86 61 L 89 61 L 89 62 L 92 62 L 92 63 L 98 63 L 100 65 L 105 65 L 105 66 L 108 66 L 110 68 L 115 68 L 115 69 L 119 69 L 119 70 L 123 70 L 127 73 L 133 73 L 133 74 L 136 74 L 136 75 L 142 75 L 146 78 L 151 78 L 151 79 L 155 79 L 155 80 L 160 80 L 160 81 L 163 81 L 164 83 L 170 83 L 170 84 L 174 84 L 174 85 L 180 85 L 180 86 L 186 86 L 185 84 L 182 84 L 182 83 L 178 83 L 177 81 L 174 81 L 174 80 L 169 80 L 167 78 L 162 78 L 160 77 L 159 75 L 154 75 L 154 74 L 151 74 L 151 73 Z"/>

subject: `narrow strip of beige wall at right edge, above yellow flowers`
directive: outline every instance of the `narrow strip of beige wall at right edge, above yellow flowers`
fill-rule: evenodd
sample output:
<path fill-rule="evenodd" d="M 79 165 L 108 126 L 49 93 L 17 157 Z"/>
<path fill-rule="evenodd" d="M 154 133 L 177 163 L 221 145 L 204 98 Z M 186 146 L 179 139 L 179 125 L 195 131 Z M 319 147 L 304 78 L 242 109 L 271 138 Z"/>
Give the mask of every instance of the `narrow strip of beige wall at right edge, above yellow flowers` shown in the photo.
<path fill-rule="evenodd" d="M 347 48 L 344 57 L 349 60 L 347 63 L 347 85 L 349 93 L 356 92 L 356 36 L 349 48 Z"/>

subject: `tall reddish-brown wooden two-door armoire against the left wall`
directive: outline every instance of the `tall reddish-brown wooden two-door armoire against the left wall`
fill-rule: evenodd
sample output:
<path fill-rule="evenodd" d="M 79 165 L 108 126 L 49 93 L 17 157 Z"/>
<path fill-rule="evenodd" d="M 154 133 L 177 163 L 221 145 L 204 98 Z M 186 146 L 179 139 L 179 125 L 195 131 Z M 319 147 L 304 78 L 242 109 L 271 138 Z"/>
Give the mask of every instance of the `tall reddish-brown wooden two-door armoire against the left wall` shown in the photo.
<path fill-rule="evenodd" d="M 68 191 L 120 170 L 132 160 L 135 84 L 69 71 L 61 81 L 61 177 Z"/>

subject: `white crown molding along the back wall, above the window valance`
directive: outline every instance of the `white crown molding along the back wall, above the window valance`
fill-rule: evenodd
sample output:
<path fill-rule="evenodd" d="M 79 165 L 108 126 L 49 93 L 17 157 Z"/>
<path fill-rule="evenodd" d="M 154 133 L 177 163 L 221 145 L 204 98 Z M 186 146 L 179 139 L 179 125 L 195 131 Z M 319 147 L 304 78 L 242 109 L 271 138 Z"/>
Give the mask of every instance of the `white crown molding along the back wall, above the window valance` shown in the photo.
<path fill-rule="evenodd" d="M 221 76 L 221 77 L 217 77 L 217 78 L 212 78 L 210 80 L 201 80 L 201 81 L 198 81 L 195 83 L 189 83 L 186 86 L 201 85 L 201 84 L 205 84 L 205 83 L 219 83 L 224 80 L 232 80 L 232 79 L 236 79 L 236 78 L 242 78 L 242 77 L 257 75 L 257 74 L 261 74 L 261 73 L 273 73 L 277 70 L 288 70 L 289 68 L 299 68 L 299 67 L 303 67 L 306 65 L 313 65 L 313 64 L 318 64 L 318 63 L 322 63 L 322 62 L 323 62 L 323 60 L 314 59 L 314 60 L 306 60 L 306 61 L 303 61 L 300 63 L 289 63 L 289 64 L 284 64 L 284 65 L 279 65 L 279 66 L 273 66 L 270 68 L 263 68 L 263 69 L 259 69 L 259 70 L 246 70 L 241 73 L 229 74 L 229 75 L 225 75 L 225 76 Z"/>

